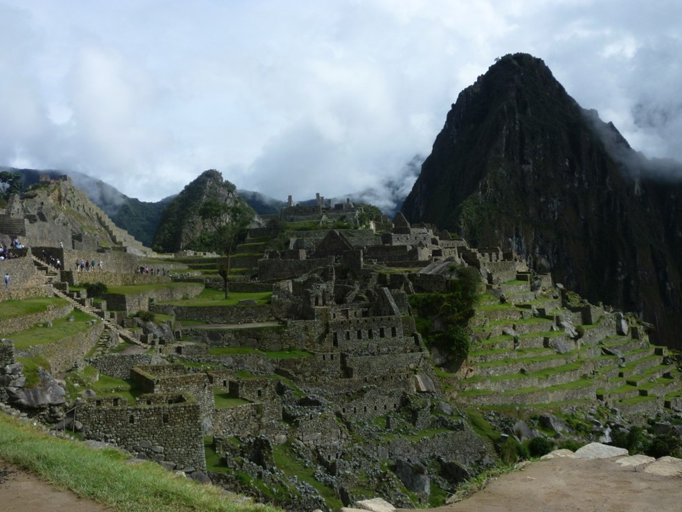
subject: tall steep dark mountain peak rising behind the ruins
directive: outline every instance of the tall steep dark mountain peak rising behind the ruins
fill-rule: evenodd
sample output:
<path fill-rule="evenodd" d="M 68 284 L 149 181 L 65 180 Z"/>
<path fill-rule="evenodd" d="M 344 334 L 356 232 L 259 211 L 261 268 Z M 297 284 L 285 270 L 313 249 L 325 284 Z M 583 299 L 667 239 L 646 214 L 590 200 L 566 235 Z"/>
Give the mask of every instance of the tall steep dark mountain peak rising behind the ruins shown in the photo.
<path fill-rule="evenodd" d="M 462 91 L 406 198 L 411 222 L 501 246 L 682 346 L 682 166 L 649 161 L 542 60 L 506 55 Z M 667 178 L 666 178 L 667 177 Z"/>

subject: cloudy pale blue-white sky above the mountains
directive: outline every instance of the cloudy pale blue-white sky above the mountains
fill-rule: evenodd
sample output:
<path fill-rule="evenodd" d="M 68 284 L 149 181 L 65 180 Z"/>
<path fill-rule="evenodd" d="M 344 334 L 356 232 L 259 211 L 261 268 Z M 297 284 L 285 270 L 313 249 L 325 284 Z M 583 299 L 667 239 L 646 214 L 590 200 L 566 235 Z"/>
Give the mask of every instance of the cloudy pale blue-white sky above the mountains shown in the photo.
<path fill-rule="evenodd" d="M 294 201 L 411 189 L 459 92 L 541 58 L 682 161 L 679 0 L 0 0 L 0 166 L 158 201 L 202 171 Z"/>

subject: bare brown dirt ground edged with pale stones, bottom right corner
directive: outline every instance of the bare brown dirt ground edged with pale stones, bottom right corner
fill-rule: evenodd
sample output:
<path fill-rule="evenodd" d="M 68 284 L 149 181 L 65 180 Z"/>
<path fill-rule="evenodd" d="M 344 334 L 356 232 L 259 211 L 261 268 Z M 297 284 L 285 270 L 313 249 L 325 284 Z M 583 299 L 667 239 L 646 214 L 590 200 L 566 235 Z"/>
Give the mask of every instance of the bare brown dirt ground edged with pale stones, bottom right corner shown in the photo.
<path fill-rule="evenodd" d="M 459 503 L 424 512 L 679 511 L 682 477 L 622 468 L 613 459 L 552 459 L 490 482 Z"/>

